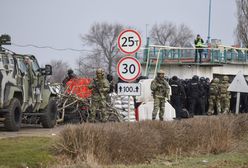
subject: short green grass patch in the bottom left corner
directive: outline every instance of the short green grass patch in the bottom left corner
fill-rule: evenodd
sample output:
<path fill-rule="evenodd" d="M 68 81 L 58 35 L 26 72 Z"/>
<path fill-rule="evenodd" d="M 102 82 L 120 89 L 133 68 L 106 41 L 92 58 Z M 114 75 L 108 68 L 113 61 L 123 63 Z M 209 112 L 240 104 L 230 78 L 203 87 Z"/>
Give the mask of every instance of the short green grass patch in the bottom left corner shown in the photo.
<path fill-rule="evenodd" d="M 19 137 L 0 140 L 0 168 L 46 167 L 54 161 L 47 137 Z"/>

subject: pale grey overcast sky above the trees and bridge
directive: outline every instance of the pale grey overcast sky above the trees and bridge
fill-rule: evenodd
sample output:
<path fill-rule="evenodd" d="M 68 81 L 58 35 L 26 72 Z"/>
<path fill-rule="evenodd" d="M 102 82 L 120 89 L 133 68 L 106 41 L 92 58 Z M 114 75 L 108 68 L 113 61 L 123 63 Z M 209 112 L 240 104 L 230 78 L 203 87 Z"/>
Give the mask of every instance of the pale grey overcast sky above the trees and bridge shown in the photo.
<path fill-rule="evenodd" d="M 135 27 L 145 42 L 146 28 L 164 21 L 188 25 L 204 40 L 208 32 L 209 0 L 0 0 L 0 34 L 11 35 L 15 44 L 86 49 L 80 35 L 95 22 Z M 211 38 L 234 43 L 235 0 L 212 0 Z M 147 26 L 146 26 L 147 25 Z M 85 52 L 54 51 L 6 46 L 17 53 L 34 54 L 41 64 L 62 59 L 75 65 Z M 75 67 L 72 67 L 75 68 Z"/>

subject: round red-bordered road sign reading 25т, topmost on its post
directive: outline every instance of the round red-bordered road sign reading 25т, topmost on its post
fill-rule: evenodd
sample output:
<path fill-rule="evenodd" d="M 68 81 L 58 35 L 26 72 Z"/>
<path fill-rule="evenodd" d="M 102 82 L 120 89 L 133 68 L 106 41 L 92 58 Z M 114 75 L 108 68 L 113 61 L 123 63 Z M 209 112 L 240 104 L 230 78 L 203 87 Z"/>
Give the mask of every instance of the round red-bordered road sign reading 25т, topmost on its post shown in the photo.
<path fill-rule="evenodd" d="M 141 37 L 135 30 L 124 30 L 118 36 L 118 47 L 125 54 L 134 54 L 141 46 Z"/>

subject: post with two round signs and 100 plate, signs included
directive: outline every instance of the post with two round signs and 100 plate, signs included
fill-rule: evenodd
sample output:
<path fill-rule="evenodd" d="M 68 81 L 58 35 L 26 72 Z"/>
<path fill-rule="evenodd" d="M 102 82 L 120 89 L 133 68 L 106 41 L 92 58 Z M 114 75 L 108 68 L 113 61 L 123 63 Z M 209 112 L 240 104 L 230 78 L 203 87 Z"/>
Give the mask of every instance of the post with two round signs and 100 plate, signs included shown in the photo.
<path fill-rule="evenodd" d="M 141 36 L 135 30 L 127 29 L 118 36 L 118 47 L 127 55 L 136 53 L 141 47 Z M 118 76 L 126 82 L 135 81 L 141 74 L 140 62 L 131 56 L 126 56 L 117 64 Z M 118 95 L 128 96 L 128 121 L 130 121 L 130 96 L 140 95 L 141 86 L 136 83 L 118 83 Z"/>

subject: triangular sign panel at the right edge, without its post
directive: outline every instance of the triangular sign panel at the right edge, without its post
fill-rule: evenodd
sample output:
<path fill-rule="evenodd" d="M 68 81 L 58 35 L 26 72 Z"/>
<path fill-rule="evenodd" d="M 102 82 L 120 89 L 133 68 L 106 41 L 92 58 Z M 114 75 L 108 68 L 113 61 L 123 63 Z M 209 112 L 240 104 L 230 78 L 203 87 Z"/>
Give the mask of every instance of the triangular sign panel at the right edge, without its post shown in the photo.
<path fill-rule="evenodd" d="M 235 76 L 227 90 L 230 92 L 248 93 L 248 85 L 245 81 L 244 75 L 241 72 Z"/>

